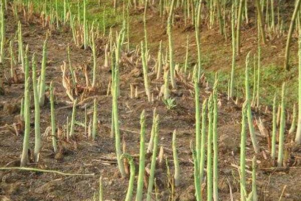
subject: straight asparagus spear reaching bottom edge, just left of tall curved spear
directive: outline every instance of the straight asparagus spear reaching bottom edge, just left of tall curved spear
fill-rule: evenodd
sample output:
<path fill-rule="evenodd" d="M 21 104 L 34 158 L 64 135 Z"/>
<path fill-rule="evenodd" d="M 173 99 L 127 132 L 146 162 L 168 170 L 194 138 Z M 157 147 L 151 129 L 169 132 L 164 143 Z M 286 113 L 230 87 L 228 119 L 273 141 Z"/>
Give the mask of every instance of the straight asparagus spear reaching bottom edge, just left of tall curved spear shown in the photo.
<path fill-rule="evenodd" d="M 241 141 L 240 141 L 240 200 L 246 200 L 246 113 L 247 101 L 242 106 Z"/>

